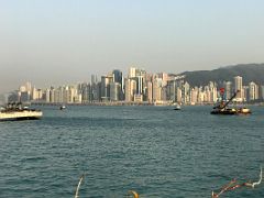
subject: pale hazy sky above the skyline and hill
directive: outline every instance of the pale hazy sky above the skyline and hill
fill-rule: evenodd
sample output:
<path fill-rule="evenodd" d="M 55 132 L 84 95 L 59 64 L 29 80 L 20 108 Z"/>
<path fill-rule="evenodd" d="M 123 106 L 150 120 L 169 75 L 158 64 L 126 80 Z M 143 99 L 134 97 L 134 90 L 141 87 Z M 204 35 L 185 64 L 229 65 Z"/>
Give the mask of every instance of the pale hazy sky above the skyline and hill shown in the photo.
<path fill-rule="evenodd" d="M 0 0 L 0 92 L 263 62 L 263 0 Z"/>

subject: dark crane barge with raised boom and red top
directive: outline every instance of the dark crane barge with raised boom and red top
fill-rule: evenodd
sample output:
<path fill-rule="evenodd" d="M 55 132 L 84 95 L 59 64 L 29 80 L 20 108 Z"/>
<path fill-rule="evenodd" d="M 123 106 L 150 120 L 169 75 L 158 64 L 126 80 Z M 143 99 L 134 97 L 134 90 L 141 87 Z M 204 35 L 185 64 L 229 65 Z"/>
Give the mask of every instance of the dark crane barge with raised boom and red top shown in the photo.
<path fill-rule="evenodd" d="M 251 110 L 245 107 L 244 108 L 228 108 L 228 105 L 237 97 L 238 92 L 240 92 L 240 90 L 234 92 L 234 95 L 228 101 L 224 101 L 223 100 L 224 89 L 221 88 L 220 89 L 221 101 L 217 106 L 213 107 L 211 114 L 250 114 Z"/>

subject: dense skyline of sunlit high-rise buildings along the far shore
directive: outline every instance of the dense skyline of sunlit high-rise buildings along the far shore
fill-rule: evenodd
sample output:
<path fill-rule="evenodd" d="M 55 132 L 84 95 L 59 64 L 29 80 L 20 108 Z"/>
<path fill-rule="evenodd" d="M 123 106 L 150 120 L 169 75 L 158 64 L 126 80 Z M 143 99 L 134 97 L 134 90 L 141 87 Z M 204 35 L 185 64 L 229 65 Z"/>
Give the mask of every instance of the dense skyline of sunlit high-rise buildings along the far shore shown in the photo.
<path fill-rule="evenodd" d="M 233 76 L 232 80 L 207 85 L 193 85 L 185 76 L 174 74 L 151 74 L 145 69 L 131 67 L 128 76 L 113 69 L 100 78 L 91 76 L 89 82 L 61 85 L 38 88 L 31 82 L 21 85 L 19 90 L 10 92 L 9 102 L 41 103 L 116 103 L 116 105 L 208 105 L 216 103 L 219 98 L 229 99 L 235 92 L 237 102 L 260 102 L 264 99 L 263 84 L 250 81 L 243 84 L 242 76 Z M 7 100 L 6 100 L 7 102 Z"/>

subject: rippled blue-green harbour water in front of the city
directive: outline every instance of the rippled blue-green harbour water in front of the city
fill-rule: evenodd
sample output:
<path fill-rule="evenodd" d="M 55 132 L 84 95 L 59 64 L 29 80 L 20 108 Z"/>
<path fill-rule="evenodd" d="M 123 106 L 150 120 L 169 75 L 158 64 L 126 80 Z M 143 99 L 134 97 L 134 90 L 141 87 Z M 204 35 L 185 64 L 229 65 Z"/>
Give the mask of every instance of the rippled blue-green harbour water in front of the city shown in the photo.
<path fill-rule="evenodd" d="M 232 178 L 258 180 L 264 108 L 211 116 L 211 107 L 41 107 L 38 121 L 0 122 L 0 197 L 206 198 Z M 238 188 L 226 198 L 264 197 Z"/>

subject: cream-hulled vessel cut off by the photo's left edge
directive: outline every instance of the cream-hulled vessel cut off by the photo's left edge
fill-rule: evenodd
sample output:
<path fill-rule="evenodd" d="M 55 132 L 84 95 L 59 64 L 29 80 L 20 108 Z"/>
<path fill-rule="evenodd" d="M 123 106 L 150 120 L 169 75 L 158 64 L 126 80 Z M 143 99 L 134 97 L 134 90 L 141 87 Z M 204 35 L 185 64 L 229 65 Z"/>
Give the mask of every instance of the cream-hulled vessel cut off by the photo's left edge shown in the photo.
<path fill-rule="evenodd" d="M 42 111 L 23 107 L 21 102 L 10 102 L 0 110 L 0 121 L 8 120 L 37 120 L 42 118 Z"/>

